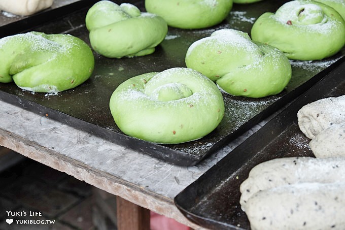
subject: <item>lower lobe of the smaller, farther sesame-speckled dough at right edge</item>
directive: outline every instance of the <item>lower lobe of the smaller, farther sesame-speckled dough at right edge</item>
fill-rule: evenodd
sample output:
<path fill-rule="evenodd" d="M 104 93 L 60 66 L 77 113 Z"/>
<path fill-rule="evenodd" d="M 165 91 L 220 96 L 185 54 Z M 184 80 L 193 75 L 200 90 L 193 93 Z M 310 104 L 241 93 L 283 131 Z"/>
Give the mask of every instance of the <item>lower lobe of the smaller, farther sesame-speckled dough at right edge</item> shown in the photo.
<path fill-rule="evenodd" d="M 329 126 L 309 146 L 316 157 L 345 157 L 345 122 Z"/>

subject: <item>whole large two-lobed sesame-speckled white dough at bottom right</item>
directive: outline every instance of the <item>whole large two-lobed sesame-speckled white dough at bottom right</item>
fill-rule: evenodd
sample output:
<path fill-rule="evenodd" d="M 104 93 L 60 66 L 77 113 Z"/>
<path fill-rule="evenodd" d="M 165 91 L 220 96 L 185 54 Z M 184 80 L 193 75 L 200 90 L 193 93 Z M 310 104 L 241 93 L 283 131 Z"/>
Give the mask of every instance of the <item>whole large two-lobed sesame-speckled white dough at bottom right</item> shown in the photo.
<path fill-rule="evenodd" d="M 277 158 L 250 171 L 240 204 L 251 229 L 342 229 L 344 189 L 344 158 Z"/>

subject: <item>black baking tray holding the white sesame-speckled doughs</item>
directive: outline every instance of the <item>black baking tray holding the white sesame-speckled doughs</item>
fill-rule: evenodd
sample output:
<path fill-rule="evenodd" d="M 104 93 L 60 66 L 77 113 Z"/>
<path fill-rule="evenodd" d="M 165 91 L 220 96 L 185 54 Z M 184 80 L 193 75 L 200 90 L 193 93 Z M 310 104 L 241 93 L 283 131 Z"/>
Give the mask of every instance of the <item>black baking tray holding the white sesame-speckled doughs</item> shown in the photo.
<path fill-rule="evenodd" d="M 210 229 L 250 229 L 240 209 L 239 185 L 259 163 L 273 158 L 312 156 L 309 139 L 300 131 L 297 112 L 304 105 L 345 94 L 345 63 L 315 84 L 255 134 L 221 159 L 175 198 L 191 221 Z"/>

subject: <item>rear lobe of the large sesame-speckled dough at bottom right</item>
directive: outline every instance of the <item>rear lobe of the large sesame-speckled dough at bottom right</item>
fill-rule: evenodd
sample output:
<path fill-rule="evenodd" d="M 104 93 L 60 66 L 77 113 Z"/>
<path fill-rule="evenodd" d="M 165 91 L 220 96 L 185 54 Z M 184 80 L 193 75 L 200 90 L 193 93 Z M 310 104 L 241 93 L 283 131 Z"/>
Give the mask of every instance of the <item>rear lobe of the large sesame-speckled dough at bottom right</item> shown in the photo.
<path fill-rule="evenodd" d="M 340 158 L 284 157 L 255 166 L 240 185 L 241 208 L 258 191 L 297 183 L 345 182 L 345 161 Z"/>

